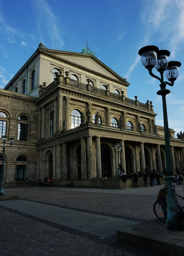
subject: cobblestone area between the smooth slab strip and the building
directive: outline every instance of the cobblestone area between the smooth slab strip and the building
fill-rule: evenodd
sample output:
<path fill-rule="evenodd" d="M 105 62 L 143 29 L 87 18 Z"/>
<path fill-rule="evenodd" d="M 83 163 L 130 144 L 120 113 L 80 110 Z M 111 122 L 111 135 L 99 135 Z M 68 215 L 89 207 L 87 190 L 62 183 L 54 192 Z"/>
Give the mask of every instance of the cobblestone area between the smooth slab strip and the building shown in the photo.
<path fill-rule="evenodd" d="M 153 204 L 156 197 L 140 195 L 119 195 L 86 193 L 76 191 L 38 189 L 7 191 L 6 195 L 19 195 L 20 198 L 37 202 L 47 202 L 70 209 L 106 214 L 107 216 L 144 221 L 155 218 Z"/>

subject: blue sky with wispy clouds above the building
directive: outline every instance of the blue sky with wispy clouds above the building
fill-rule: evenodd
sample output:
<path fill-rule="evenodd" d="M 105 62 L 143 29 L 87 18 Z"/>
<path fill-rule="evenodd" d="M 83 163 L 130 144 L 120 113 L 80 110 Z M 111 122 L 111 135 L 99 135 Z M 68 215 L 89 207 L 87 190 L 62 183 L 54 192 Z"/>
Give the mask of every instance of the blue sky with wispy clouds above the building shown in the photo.
<path fill-rule="evenodd" d="M 96 56 L 130 83 L 128 97 L 153 102 L 156 124 L 163 125 L 159 80 L 143 67 L 138 51 L 157 45 L 182 63 L 167 96 L 169 127 L 184 130 L 183 0 L 6 0 L 0 2 L 0 88 L 16 74 L 42 42 L 49 49 Z M 155 74 L 159 74 L 154 69 Z M 175 135 L 176 136 L 176 135 Z"/>

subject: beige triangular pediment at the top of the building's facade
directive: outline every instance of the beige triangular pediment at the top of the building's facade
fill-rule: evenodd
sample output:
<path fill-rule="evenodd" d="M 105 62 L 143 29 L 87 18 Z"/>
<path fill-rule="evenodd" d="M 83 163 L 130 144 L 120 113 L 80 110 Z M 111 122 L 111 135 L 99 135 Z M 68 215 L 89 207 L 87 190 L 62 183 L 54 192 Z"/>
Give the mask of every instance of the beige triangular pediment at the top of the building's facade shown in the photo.
<path fill-rule="evenodd" d="M 96 57 L 94 57 L 91 54 L 57 51 L 57 50 L 50 50 L 50 49 L 40 49 L 40 50 L 52 56 L 56 56 L 63 60 L 67 60 L 80 67 L 84 67 L 85 69 L 88 69 L 90 71 L 94 71 L 98 74 L 102 74 L 109 78 L 115 79 L 123 83 L 124 85 L 127 85 L 127 86 L 130 85 L 125 79 L 123 79 L 121 76 L 116 74 L 113 70 L 107 67 L 102 61 L 98 60 Z"/>

